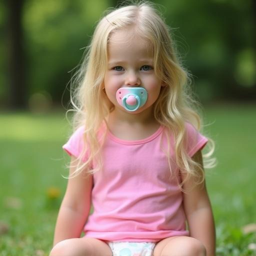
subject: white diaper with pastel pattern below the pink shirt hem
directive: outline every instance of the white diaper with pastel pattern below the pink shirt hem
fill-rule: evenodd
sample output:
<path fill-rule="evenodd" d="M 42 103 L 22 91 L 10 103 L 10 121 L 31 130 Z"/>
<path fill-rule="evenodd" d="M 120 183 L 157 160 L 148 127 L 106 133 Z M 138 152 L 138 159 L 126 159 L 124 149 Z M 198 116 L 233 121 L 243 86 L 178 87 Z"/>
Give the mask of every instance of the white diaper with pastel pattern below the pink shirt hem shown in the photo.
<path fill-rule="evenodd" d="M 108 242 L 113 256 L 152 256 L 155 242 Z"/>

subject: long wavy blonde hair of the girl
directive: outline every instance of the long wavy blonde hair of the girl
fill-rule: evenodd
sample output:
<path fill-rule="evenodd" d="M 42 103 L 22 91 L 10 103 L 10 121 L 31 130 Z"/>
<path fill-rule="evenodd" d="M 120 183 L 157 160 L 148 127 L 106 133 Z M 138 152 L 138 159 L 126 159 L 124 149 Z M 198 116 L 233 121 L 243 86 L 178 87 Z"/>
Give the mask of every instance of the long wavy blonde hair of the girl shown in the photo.
<path fill-rule="evenodd" d="M 74 175 L 84 168 L 93 173 L 102 165 L 100 148 L 104 134 L 99 138 L 98 132 L 102 122 L 106 124 L 105 118 L 112 108 L 103 90 L 107 45 L 115 30 L 127 27 L 134 28 L 134 32 L 148 40 L 152 47 L 155 73 L 165 84 L 154 103 L 154 117 L 174 134 L 176 164 L 181 172 L 187 173 L 188 176 L 201 177 L 199 182 L 203 182 L 203 167 L 193 161 L 184 149 L 185 122 L 192 123 L 198 130 L 200 128 L 199 115 L 192 108 L 195 101 L 190 96 L 191 93 L 188 93 L 189 74 L 179 63 L 170 37 L 170 29 L 152 3 L 145 1 L 119 7 L 103 16 L 94 30 L 80 69 L 75 74 L 74 83 L 71 84 L 78 84 L 73 91 L 74 95 L 71 96 L 75 109 L 73 129 L 84 125 L 85 148 L 82 153 L 89 151 L 89 154 L 87 160 L 77 166 Z M 105 127 L 107 129 L 107 125 Z M 210 152 L 204 156 L 209 157 L 213 149 L 214 144 L 211 145 Z M 96 162 L 94 169 L 89 168 L 92 160 L 93 163 Z M 168 161 L 170 166 L 169 157 Z M 210 159 L 205 167 L 213 165 L 213 161 L 214 159 Z"/>

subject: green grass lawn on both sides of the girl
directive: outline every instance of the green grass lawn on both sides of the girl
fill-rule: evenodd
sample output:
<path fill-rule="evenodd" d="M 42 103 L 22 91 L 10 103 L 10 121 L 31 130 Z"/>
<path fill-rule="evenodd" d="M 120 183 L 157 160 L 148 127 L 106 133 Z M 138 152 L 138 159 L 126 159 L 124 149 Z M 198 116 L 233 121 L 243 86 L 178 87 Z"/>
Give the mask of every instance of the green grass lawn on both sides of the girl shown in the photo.
<path fill-rule="evenodd" d="M 256 255 L 256 105 L 204 110 L 218 165 L 207 171 L 217 231 L 217 255 Z M 48 255 L 66 180 L 64 113 L 0 114 L 0 255 Z"/>

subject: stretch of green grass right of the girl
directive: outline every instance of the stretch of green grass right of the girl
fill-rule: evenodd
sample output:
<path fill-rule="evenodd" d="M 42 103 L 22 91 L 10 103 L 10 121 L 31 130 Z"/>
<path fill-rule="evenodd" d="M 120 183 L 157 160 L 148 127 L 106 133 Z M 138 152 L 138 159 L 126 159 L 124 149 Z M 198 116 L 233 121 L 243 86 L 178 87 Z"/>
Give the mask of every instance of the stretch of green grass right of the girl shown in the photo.
<path fill-rule="evenodd" d="M 218 255 L 256 255 L 248 245 L 256 232 L 243 233 L 255 223 L 256 106 L 219 106 L 205 110 L 206 126 L 216 143 L 218 165 L 208 171 L 207 186 L 217 231 Z M 249 245 L 252 246 L 252 245 Z"/>

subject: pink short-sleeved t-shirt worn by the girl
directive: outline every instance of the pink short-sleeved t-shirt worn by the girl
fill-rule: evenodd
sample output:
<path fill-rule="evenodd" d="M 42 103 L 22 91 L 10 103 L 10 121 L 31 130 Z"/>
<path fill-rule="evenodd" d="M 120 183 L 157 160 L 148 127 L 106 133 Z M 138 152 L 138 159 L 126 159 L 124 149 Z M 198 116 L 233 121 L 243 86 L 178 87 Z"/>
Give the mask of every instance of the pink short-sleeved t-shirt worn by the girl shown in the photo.
<path fill-rule="evenodd" d="M 102 148 L 103 167 L 93 174 L 91 200 L 93 213 L 84 226 L 85 236 L 115 241 L 158 241 L 175 235 L 189 235 L 185 225 L 178 171 L 171 170 L 164 148 L 167 139 L 160 126 L 141 140 L 122 140 L 109 131 Z M 78 128 L 63 145 L 70 155 L 82 152 L 84 127 Z M 189 156 L 207 142 L 186 123 Z M 170 155 L 173 159 L 173 138 Z M 180 180 L 179 180 L 180 182 Z"/>

